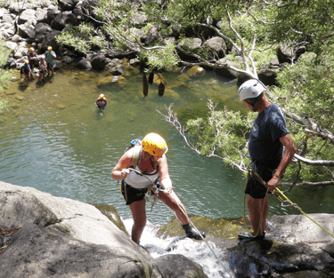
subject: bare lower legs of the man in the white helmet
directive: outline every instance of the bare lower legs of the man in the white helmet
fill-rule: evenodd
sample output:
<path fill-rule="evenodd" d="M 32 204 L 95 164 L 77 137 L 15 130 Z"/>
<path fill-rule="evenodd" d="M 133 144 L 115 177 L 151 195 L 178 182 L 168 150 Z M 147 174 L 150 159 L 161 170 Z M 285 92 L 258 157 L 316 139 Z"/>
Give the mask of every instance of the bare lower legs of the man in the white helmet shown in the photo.
<path fill-rule="evenodd" d="M 254 199 L 248 195 L 247 207 L 254 234 L 263 235 L 265 232 L 265 221 L 269 212 L 268 196 L 266 195 L 263 199 Z"/>

